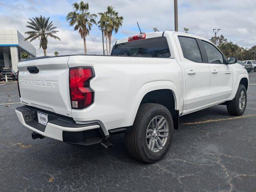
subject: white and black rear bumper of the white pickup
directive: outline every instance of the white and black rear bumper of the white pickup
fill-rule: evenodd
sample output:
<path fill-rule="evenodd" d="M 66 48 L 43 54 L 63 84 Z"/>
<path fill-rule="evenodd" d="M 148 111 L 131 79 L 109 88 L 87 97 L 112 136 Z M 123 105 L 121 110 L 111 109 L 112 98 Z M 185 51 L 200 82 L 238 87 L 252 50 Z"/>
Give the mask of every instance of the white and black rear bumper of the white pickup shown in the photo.
<path fill-rule="evenodd" d="M 45 137 L 81 145 L 101 143 L 106 139 L 98 123 L 76 124 L 71 118 L 48 114 L 49 121 L 44 126 L 38 123 L 36 108 L 23 106 L 16 108 L 15 112 L 22 125 Z"/>

